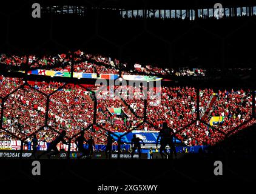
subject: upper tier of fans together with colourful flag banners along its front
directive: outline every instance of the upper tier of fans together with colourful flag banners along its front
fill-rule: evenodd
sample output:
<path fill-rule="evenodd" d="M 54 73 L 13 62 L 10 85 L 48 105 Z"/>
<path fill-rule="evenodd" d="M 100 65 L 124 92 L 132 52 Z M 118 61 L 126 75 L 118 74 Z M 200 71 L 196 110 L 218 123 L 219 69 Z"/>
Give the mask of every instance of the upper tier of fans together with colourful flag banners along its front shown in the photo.
<path fill-rule="evenodd" d="M 220 69 L 201 68 L 167 68 L 156 64 L 131 63 L 109 56 L 92 55 L 81 50 L 76 52 L 59 53 L 56 55 L 0 55 L 0 69 L 27 72 L 32 75 L 62 76 L 74 78 L 111 78 L 122 75 L 145 76 L 207 76 L 217 75 Z M 250 68 L 228 69 L 232 73 L 250 73 Z M 101 75 L 112 75 L 101 76 Z"/>

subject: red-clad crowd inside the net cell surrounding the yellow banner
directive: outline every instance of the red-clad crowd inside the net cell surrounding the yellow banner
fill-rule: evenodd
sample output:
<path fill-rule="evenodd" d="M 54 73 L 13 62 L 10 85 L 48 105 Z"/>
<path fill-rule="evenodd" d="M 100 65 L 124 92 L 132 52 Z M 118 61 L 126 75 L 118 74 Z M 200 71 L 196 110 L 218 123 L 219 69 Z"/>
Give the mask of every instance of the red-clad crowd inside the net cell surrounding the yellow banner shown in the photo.
<path fill-rule="evenodd" d="M 218 127 L 225 133 L 251 118 L 252 94 L 250 90 L 218 90 L 217 93 L 214 93 L 213 90 L 206 89 L 201 95 L 203 95 L 201 112 L 205 113 L 207 108 L 209 111 L 206 112 L 205 121 L 208 123 L 212 116 L 224 117 L 224 121 L 218 124 Z"/>

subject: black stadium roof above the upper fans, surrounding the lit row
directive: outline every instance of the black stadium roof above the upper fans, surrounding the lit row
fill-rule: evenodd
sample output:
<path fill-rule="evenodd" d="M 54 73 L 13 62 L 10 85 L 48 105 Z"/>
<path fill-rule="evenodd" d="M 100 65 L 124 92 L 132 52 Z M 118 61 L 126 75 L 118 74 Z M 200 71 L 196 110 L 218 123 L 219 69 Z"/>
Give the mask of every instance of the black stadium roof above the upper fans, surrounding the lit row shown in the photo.
<path fill-rule="evenodd" d="M 38 0 L 47 5 L 84 5 L 129 9 L 246 7 L 252 0 Z M 135 3 L 136 2 L 136 3 Z M 121 20 L 116 10 L 87 10 L 86 17 L 43 15 L 32 18 L 32 0 L 0 2 L 0 53 L 27 55 L 84 49 L 123 61 L 171 67 L 254 67 L 255 16 L 195 21 Z M 180 8 L 175 8 L 179 7 Z M 199 7 L 199 8 L 200 8 Z M 150 9 L 149 8 L 149 9 Z M 192 9 L 192 8 L 189 8 Z M 102 11 L 102 12 L 101 12 Z M 106 12 L 105 12 L 106 11 Z M 82 25 L 81 25 L 82 24 Z M 90 30 L 87 30 L 90 28 Z M 17 33 L 17 29 L 20 32 Z M 110 30 L 115 29 L 115 30 Z M 117 30 L 116 30 L 117 29 Z M 120 33 L 121 32 L 121 33 Z M 137 46 L 139 45 L 139 46 Z M 223 45 L 223 52 L 220 49 Z M 209 60 L 210 59 L 210 60 Z"/>

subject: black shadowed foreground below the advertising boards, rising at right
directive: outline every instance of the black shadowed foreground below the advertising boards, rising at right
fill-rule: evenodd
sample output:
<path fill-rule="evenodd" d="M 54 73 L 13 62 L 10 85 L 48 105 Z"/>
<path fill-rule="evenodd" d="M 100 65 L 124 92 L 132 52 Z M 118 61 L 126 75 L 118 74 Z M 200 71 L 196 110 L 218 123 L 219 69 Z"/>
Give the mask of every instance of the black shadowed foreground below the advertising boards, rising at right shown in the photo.
<path fill-rule="evenodd" d="M 255 175 L 255 125 L 212 147 L 208 153 L 184 154 L 178 160 L 40 160 L 42 175 L 32 176 L 32 160 L 1 160 L 1 182 L 83 182 L 100 184 L 160 184 L 181 182 L 251 182 Z M 214 175 L 214 162 L 223 162 L 223 176 Z"/>

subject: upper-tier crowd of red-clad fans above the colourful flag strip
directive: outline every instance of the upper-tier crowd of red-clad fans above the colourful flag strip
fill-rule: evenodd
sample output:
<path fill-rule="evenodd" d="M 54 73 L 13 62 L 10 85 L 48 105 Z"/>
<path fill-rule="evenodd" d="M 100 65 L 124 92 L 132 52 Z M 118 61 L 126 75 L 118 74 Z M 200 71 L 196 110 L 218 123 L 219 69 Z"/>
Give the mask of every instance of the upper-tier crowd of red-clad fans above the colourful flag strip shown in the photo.
<path fill-rule="evenodd" d="M 9 67 L 29 66 L 29 69 L 48 69 L 61 72 L 71 72 L 73 65 L 73 72 L 75 73 L 99 73 L 99 74 L 115 74 L 119 75 L 120 70 L 123 75 L 176 75 L 176 76 L 203 76 L 206 70 L 192 70 L 188 68 L 182 69 L 168 69 L 156 67 L 156 65 L 142 65 L 129 62 L 120 62 L 118 59 L 111 59 L 110 57 L 102 55 L 92 55 L 81 50 L 76 52 L 60 53 L 56 55 L 0 55 L 0 65 L 4 64 Z M 21 69 L 24 70 L 24 69 Z"/>

